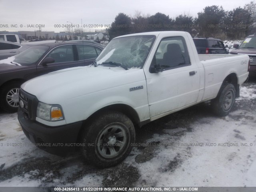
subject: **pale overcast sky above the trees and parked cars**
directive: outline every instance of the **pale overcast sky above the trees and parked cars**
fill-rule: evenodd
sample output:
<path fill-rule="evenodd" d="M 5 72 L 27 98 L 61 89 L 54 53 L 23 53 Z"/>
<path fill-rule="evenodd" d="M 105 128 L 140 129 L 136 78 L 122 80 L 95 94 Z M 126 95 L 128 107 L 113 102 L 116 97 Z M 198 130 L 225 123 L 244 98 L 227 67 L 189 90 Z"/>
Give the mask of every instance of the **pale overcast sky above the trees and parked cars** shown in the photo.
<path fill-rule="evenodd" d="M 120 12 L 134 16 L 157 12 L 175 18 L 180 14 L 197 17 L 206 6 L 222 6 L 225 11 L 244 7 L 251 0 L 0 0 L 0 31 L 65 31 L 64 24 L 94 32 L 94 25 L 109 25 Z M 82 19 L 82 23 L 81 23 Z M 58 26 L 57 26 L 57 25 Z M 56 26 L 54 26 L 56 25 Z M 91 26 L 93 25 L 93 26 Z M 22 26 L 22 28 L 20 27 Z M 62 28 L 64 27 L 64 28 Z M 74 29 L 74 28 L 73 28 Z"/>

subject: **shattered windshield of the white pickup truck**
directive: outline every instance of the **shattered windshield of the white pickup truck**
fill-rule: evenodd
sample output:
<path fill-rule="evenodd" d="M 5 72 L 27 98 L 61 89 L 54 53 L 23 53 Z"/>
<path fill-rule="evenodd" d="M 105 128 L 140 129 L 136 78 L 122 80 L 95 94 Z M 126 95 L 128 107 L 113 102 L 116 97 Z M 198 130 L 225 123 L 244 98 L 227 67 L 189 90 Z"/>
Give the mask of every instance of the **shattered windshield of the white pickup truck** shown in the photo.
<path fill-rule="evenodd" d="M 96 64 L 142 68 L 155 39 L 152 35 L 113 39 L 98 56 Z"/>

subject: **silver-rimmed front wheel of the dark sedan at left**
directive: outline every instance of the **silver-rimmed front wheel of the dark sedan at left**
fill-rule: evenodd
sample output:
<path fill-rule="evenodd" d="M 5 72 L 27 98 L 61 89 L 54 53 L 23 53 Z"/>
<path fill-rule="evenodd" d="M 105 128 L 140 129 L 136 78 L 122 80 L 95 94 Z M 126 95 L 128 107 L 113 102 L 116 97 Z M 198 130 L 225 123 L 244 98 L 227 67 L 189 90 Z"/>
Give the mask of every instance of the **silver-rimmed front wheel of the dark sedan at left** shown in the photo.
<path fill-rule="evenodd" d="M 7 112 L 17 112 L 19 106 L 19 90 L 21 83 L 12 82 L 5 85 L 0 92 L 0 106 Z"/>

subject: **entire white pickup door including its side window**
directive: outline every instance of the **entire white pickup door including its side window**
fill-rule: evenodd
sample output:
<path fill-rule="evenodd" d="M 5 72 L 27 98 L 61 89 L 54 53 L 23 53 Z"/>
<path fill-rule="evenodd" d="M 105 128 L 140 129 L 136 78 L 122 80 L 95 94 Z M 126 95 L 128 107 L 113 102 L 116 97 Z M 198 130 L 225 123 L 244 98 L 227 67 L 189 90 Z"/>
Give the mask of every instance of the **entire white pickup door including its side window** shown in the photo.
<path fill-rule="evenodd" d="M 162 72 L 145 71 L 150 118 L 197 101 L 200 89 L 198 66 L 190 61 L 182 37 L 160 42 L 151 63 Z"/>

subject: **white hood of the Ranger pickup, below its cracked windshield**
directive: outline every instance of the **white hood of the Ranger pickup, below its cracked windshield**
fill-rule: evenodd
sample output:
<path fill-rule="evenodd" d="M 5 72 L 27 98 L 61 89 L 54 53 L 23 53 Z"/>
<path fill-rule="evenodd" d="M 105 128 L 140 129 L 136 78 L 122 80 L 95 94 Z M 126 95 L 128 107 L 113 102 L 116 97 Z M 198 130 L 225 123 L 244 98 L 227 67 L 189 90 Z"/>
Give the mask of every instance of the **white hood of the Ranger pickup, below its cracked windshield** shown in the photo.
<path fill-rule="evenodd" d="M 57 104 L 54 96 L 58 96 L 58 101 L 61 102 L 118 85 L 136 82 L 138 79 L 132 78 L 132 74 L 138 70 L 142 69 L 124 70 L 121 67 L 106 66 L 74 67 L 38 76 L 22 84 L 21 88 L 35 95 L 39 101 Z"/>

